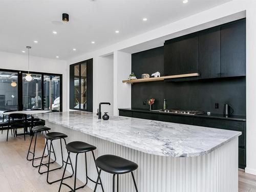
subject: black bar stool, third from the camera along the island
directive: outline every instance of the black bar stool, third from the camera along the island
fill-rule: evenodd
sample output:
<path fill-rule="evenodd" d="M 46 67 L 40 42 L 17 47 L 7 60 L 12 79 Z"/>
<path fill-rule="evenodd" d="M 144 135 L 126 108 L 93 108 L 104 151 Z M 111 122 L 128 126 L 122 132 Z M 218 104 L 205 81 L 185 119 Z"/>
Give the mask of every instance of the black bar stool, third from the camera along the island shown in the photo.
<path fill-rule="evenodd" d="M 62 152 L 62 142 L 61 142 L 61 139 L 63 139 L 64 142 L 65 142 L 65 145 L 67 145 L 67 142 L 66 142 L 66 140 L 65 140 L 65 138 L 67 138 L 67 137 L 68 137 L 68 136 L 67 136 L 66 134 L 59 133 L 59 132 L 51 132 L 51 133 L 48 133 L 48 134 L 45 135 L 46 144 L 45 144 L 44 151 L 42 152 L 42 157 L 41 157 L 41 162 L 40 162 L 40 165 L 39 165 L 38 173 L 39 173 L 39 174 L 47 173 L 47 183 L 49 183 L 49 184 L 52 184 L 52 183 L 56 183 L 56 182 L 58 182 L 58 181 L 61 181 L 61 179 L 58 179 L 58 180 L 55 180 L 55 181 L 50 182 L 50 181 L 49 181 L 49 172 L 52 172 L 53 170 L 61 169 L 61 168 L 63 167 L 64 163 L 67 163 L 67 164 L 70 164 L 70 165 L 71 165 L 71 168 L 72 168 L 72 175 L 71 175 L 71 176 L 67 176 L 67 177 L 65 177 L 65 178 L 63 178 L 63 179 L 70 178 L 70 177 L 72 177 L 72 176 L 74 175 L 74 169 L 73 169 L 73 165 L 72 165 L 72 162 L 71 162 L 70 157 L 68 156 L 67 162 L 65 162 L 65 161 L 63 160 L 63 152 Z M 54 169 L 51 169 L 51 170 L 50 170 L 50 164 L 52 163 L 52 162 L 50 162 L 51 153 L 54 154 L 54 158 L 55 158 L 54 161 L 56 161 L 55 152 L 52 151 L 52 147 L 53 147 L 52 141 L 53 141 L 53 140 L 56 140 L 56 139 L 59 139 L 59 140 L 60 140 L 61 162 L 62 162 L 62 165 L 61 165 L 60 167 L 57 167 L 57 168 L 54 168 Z M 44 153 L 45 153 L 45 150 L 46 150 L 46 146 L 48 146 L 48 144 L 47 144 L 47 143 L 48 143 L 48 140 L 50 140 L 50 150 L 48 150 L 49 160 L 48 160 L 48 163 L 42 163 L 42 159 L 44 158 Z M 68 163 L 68 161 L 70 161 L 70 163 Z M 44 166 L 47 167 L 47 171 L 46 171 L 46 172 L 40 172 L 41 165 L 44 165 Z"/>

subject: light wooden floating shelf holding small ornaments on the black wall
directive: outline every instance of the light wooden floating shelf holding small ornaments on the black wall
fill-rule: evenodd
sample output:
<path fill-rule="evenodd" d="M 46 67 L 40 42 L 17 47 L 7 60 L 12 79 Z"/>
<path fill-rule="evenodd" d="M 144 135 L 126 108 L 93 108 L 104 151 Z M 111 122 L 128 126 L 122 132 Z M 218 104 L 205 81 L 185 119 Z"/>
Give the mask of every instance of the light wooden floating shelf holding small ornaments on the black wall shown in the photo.
<path fill-rule="evenodd" d="M 197 76 L 199 76 L 199 73 L 189 73 L 189 74 L 182 74 L 182 75 L 170 75 L 170 76 L 151 77 L 151 78 L 144 78 L 144 79 L 127 79 L 127 80 L 123 80 L 122 82 L 127 82 L 127 83 L 151 82 L 151 81 L 163 81 L 164 79 L 175 79 L 175 78 L 182 78 L 182 77 L 197 77 Z"/>

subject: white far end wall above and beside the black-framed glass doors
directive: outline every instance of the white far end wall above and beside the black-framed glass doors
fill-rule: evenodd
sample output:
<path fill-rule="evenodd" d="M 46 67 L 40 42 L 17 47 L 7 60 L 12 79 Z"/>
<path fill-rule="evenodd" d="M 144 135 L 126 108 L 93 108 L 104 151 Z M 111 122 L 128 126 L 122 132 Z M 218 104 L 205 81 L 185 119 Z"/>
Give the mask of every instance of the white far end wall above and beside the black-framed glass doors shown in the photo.
<path fill-rule="evenodd" d="M 28 70 L 28 55 L 0 52 L 0 69 Z M 68 110 L 67 61 L 30 57 L 30 71 L 62 74 L 62 110 Z"/>

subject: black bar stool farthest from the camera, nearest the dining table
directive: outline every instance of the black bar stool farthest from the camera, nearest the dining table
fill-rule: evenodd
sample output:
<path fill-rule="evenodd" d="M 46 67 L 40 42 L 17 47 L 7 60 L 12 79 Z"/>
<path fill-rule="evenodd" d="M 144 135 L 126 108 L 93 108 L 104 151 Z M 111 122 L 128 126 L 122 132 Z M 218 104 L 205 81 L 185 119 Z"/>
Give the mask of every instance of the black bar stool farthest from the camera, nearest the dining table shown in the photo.
<path fill-rule="evenodd" d="M 39 166 L 39 165 L 34 165 L 34 160 L 41 158 L 41 157 L 36 157 L 35 158 L 35 148 L 36 148 L 37 133 L 40 133 L 40 132 L 46 132 L 46 133 L 48 132 L 49 133 L 49 130 L 51 130 L 51 129 L 49 127 L 47 127 L 47 126 L 35 126 L 35 127 L 32 128 L 32 131 L 35 134 L 34 150 L 33 150 L 33 152 L 30 151 L 30 148 L 31 148 L 31 145 L 32 145 L 32 142 L 33 142 L 33 138 L 34 138 L 34 135 L 32 135 L 32 138 L 31 138 L 31 141 L 30 141 L 30 145 L 29 145 L 28 154 L 27 154 L 27 160 L 28 161 L 32 161 L 32 166 L 33 167 L 38 167 Z M 46 144 L 47 144 L 47 150 L 49 150 L 48 143 L 46 143 Z M 53 151 L 54 151 L 54 149 L 53 149 Z M 32 154 L 33 157 L 29 158 L 29 154 Z M 44 156 L 44 158 L 47 157 L 48 155 L 49 155 L 49 153 L 46 156 Z M 51 163 L 54 163 L 54 162 L 55 161 L 53 161 Z"/>

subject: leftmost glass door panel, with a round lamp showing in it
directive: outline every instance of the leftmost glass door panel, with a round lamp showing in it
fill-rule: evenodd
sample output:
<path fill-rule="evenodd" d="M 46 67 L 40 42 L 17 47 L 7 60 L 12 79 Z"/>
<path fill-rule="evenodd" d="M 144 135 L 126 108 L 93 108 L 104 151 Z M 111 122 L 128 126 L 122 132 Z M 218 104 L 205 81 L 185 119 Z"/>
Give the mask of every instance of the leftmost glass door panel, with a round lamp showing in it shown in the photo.
<path fill-rule="evenodd" d="M 18 74 L 0 71 L 0 112 L 6 110 L 18 110 Z"/>

